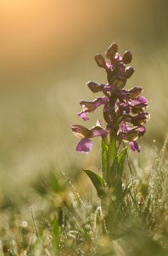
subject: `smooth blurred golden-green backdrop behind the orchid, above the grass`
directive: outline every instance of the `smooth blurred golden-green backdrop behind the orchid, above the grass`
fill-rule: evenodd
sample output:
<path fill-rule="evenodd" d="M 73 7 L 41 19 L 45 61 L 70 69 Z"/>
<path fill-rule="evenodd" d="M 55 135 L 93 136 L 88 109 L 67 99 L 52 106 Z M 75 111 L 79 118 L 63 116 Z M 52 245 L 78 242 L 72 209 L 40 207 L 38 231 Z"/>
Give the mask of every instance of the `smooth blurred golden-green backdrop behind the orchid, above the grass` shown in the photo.
<path fill-rule="evenodd" d="M 99 144 L 76 154 L 70 125 L 82 124 L 79 101 L 94 99 L 86 82 L 106 82 L 93 57 L 113 42 L 133 53 L 127 88 L 141 85 L 148 98 L 141 144 L 156 140 L 160 148 L 168 125 L 167 8 L 165 0 L 0 2 L 0 204 L 5 195 L 26 195 L 49 166 L 71 175 L 74 166 L 96 165 Z"/>

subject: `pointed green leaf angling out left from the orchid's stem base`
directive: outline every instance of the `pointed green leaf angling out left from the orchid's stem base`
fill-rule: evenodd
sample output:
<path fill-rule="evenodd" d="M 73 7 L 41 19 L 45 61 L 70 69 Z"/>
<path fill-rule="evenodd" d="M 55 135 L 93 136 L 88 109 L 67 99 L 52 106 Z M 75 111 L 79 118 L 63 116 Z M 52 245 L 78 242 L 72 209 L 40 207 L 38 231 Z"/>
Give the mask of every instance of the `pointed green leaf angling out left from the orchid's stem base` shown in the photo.
<path fill-rule="evenodd" d="M 85 173 L 87 173 L 87 176 L 90 177 L 92 184 L 94 185 L 95 189 L 97 190 L 98 197 L 102 197 L 104 195 L 104 179 L 100 177 L 97 173 L 92 172 L 90 170 L 84 170 Z"/>

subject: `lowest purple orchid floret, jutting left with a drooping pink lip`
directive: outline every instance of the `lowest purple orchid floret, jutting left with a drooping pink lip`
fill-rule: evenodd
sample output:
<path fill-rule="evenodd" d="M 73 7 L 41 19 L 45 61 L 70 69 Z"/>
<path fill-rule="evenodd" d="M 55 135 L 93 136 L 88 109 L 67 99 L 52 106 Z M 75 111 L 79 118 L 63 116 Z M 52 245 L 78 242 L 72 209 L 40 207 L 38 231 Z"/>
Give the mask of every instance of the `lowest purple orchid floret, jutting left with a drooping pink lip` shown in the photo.
<path fill-rule="evenodd" d="M 76 151 L 80 153 L 88 153 L 92 149 L 92 137 L 104 138 L 109 134 L 109 130 L 103 129 L 99 120 L 90 130 L 83 125 L 72 125 L 71 129 L 74 135 L 81 139 L 76 147 Z"/>

